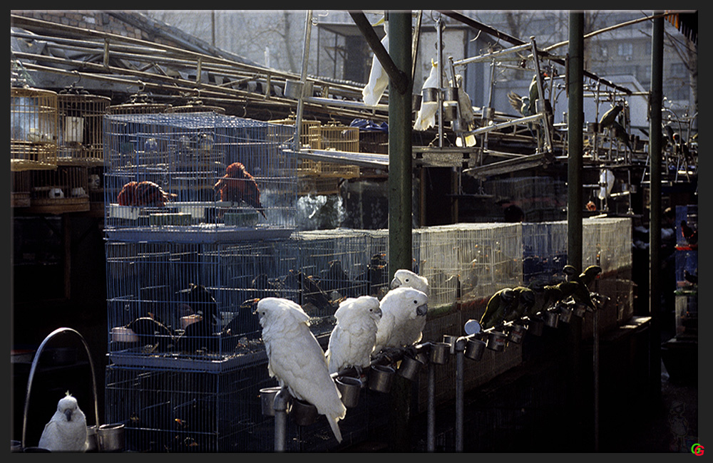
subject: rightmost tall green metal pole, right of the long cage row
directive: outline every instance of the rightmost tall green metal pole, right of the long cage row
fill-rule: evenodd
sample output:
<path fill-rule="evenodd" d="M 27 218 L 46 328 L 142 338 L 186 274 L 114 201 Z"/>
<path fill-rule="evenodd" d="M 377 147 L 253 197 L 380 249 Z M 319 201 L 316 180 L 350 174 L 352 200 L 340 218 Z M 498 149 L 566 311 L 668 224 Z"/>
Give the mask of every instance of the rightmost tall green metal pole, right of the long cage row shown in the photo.
<path fill-rule="evenodd" d="M 655 11 L 655 15 L 662 14 Z M 664 19 L 653 19 L 651 33 L 651 89 L 649 97 L 649 156 L 651 159 L 651 182 L 649 189 L 649 253 L 651 258 L 649 279 L 649 307 L 651 316 L 650 374 L 654 397 L 661 393 L 661 105 L 663 100 L 663 54 Z"/>

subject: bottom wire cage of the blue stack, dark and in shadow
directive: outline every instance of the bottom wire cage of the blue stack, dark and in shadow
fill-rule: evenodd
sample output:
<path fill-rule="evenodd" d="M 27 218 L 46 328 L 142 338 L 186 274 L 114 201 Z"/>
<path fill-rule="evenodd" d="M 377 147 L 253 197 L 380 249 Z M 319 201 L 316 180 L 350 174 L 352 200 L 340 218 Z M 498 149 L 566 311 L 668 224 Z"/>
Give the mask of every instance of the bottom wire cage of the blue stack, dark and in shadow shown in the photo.
<path fill-rule="evenodd" d="M 128 452 L 265 452 L 275 427 L 260 389 L 273 385 L 264 362 L 223 372 L 108 365 L 106 417 L 124 424 Z"/>

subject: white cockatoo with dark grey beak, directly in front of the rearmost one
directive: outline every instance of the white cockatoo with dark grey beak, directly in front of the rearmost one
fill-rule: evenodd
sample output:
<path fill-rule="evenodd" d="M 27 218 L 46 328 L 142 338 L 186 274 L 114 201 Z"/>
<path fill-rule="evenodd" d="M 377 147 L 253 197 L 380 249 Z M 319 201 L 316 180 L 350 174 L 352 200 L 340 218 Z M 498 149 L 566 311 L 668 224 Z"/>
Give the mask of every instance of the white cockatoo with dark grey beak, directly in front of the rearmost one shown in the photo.
<path fill-rule="evenodd" d="M 426 326 L 429 296 L 415 288 L 401 286 L 381 298 L 381 320 L 377 324 L 374 353 L 389 347 L 419 342 Z"/>

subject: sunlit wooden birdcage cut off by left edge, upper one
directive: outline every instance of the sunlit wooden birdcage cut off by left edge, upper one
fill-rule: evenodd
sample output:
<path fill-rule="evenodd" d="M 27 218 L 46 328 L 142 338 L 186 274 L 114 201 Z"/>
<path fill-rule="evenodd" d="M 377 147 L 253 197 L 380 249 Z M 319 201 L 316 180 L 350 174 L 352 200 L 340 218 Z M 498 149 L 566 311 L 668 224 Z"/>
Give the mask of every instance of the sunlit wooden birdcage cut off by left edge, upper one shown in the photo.
<path fill-rule="evenodd" d="M 55 169 L 57 93 L 29 87 L 10 88 L 10 169 Z"/>

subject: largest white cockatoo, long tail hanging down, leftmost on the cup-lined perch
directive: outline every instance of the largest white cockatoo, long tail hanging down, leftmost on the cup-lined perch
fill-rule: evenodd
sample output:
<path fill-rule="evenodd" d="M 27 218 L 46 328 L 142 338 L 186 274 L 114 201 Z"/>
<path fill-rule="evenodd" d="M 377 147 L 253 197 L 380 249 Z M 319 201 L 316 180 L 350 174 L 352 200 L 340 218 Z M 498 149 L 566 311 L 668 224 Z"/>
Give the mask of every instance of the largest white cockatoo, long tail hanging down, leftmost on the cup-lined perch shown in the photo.
<path fill-rule="evenodd" d="M 267 371 L 287 387 L 292 397 L 317 407 L 342 442 L 339 420 L 347 415 L 342 395 L 329 375 L 327 358 L 312 331 L 309 316 L 299 304 L 283 298 L 262 298 L 257 303 L 262 341 L 267 351 Z"/>

